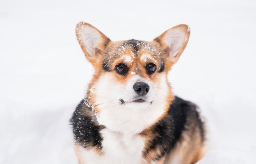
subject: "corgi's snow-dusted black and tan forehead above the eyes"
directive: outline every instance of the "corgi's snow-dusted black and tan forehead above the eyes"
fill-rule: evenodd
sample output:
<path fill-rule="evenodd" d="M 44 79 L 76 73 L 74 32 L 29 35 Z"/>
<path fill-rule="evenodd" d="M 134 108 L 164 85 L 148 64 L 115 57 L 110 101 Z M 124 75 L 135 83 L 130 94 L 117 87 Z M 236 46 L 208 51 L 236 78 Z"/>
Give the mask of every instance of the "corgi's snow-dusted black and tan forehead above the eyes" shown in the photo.
<path fill-rule="evenodd" d="M 108 46 L 103 59 L 104 70 L 110 70 L 112 63 L 118 59 L 124 63 L 137 62 L 138 60 L 144 63 L 150 60 L 159 63 L 163 61 L 159 45 L 135 39 L 113 42 L 112 45 Z"/>

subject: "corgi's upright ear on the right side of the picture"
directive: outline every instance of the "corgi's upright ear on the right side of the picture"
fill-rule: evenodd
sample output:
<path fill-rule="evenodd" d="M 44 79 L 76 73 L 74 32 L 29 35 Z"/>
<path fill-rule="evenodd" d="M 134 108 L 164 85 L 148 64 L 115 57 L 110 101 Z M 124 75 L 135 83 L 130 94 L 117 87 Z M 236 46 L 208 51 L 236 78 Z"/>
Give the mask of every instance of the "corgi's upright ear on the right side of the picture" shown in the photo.
<path fill-rule="evenodd" d="M 166 60 L 175 64 L 189 41 L 190 28 L 186 24 L 174 26 L 154 40 L 159 42 Z"/>

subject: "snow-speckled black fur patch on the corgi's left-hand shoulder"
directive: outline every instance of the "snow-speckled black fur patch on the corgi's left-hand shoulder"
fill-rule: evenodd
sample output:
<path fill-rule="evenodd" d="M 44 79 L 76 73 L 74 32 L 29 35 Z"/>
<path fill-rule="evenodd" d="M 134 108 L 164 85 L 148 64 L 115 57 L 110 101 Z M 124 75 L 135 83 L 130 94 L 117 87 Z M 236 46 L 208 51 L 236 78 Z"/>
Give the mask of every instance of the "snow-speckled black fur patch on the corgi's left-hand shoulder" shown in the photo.
<path fill-rule="evenodd" d="M 77 105 L 76 110 L 70 119 L 75 142 L 83 148 L 95 147 L 96 149 L 101 149 L 103 138 L 99 131 L 104 129 L 104 127 L 95 121 L 97 119 L 94 112 L 92 112 L 92 109 L 84 103 L 85 101 L 83 100 Z"/>

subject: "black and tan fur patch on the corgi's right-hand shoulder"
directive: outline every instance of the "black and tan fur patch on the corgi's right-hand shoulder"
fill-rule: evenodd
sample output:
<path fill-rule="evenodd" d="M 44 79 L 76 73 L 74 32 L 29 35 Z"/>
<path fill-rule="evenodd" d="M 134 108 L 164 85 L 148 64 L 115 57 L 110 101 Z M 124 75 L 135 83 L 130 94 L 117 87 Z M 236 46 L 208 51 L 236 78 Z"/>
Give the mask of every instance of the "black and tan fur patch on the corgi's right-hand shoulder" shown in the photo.
<path fill-rule="evenodd" d="M 177 142 L 182 142 L 182 134 L 192 129 L 200 129 L 204 137 L 203 122 L 197 111 L 198 106 L 175 96 L 168 113 L 149 129 L 142 132 L 147 139 L 144 157 L 150 160 L 160 160 L 169 153 Z M 193 123 L 193 125 L 191 124 Z M 158 151 L 155 151 L 158 150 Z"/>

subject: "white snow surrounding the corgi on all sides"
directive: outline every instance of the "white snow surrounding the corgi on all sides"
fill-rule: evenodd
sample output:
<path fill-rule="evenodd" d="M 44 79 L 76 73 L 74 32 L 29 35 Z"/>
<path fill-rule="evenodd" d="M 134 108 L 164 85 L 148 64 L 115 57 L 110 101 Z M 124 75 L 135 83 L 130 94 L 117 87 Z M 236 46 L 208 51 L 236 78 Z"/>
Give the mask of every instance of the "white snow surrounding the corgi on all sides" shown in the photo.
<path fill-rule="evenodd" d="M 169 80 L 208 122 L 211 144 L 198 163 L 256 162 L 253 0 L 2 0 L 1 164 L 76 163 L 69 118 L 92 75 L 74 33 L 80 21 L 113 41 L 152 40 L 189 24 L 189 44 Z"/>

